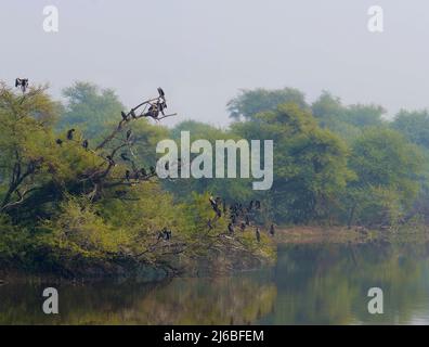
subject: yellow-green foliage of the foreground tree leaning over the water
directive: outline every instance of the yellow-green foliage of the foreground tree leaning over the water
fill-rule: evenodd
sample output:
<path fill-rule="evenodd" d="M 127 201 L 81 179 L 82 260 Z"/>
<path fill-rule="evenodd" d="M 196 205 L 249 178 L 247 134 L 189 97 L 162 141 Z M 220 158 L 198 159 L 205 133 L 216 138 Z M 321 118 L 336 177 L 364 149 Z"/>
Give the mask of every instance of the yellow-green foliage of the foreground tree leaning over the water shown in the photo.
<path fill-rule="evenodd" d="M 112 110 L 113 94 L 95 91 L 88 83 L 67 90 L 69 121 L 79 124 L 72 117 L 74 112 Z M 120 129 L 105 147 L 83 149 L 83 133 L 77 127 L 73 139 L 55 136 L 58 110 L 43 88 L 24 95 L 4 85 L 0 90 L 1 262 L 15 260 L 18 268 L 88 275 L 140 267 L 176 273 L 192 268 L 202 256 L 212 265 L 216 256 L 234 257 L 237 249 L 262 260 L 273 256 L 269 243 L 258 249 L 252 243 L 238 243 L 239 237 L 224 237 L 226 219 L 205 235 L 207 220 L 202 218 L 211 211 L 206 195 L 180 205 L 155 179 L 123 178 L 132 167 L 117 158 L 117 152 L 138 157 L 134 165 L 154 165 L 155 151 L 150 149 L 167 136 L 166 128 L 140 119 Z M 105 131 L 104 118 L 92 120 L 81 125 Z M 132 141 L 120 139 L 130 129 Z M 83 131 L 88 136 L 88 129 Z M 106 159 L 108 154 L 115 165 Z M 165 230 L 171 231 L 171 239 L 165 237 Z"/>

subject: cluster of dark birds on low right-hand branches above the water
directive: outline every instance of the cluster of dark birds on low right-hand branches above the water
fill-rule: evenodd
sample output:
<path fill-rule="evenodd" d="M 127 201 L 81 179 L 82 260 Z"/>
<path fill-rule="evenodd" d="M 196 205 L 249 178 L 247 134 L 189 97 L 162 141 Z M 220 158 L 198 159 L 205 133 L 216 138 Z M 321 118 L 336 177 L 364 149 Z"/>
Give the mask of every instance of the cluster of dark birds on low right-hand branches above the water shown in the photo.
<path fill-rule="evenodd" d="M 242 203 L 234 203 L 229 206 L 226 201 L 224 198 L 222 200 L 220 196 L 217 196 L 216 198 L 210 196 L 209 202 L 212 210 L 216 213 L 216 217 L 214 219 L 209 219 L 207 221 L 208 229 L 212 230 L 214 221 L 223 215 L 227 216 L 230 219 L 227 224 L 227 232 L 230 234 L 234 234 L 236 229 L 244 232 L 247 228 L 251 228 L 253 223 L 251 221 L 251 219 L 253 219 L 252 217 L 261 209 L 261 202 L 258 200 L 250 201 L 247 206 Z M 269 233 L 271 236 L 274 236 L 275 234 L 275 226 L 273 223 L 270 226 Z M 255 229 L 255 236 L 258 242 L 261 241 L 261 231 L 258 226 L 256 226 Z"/>

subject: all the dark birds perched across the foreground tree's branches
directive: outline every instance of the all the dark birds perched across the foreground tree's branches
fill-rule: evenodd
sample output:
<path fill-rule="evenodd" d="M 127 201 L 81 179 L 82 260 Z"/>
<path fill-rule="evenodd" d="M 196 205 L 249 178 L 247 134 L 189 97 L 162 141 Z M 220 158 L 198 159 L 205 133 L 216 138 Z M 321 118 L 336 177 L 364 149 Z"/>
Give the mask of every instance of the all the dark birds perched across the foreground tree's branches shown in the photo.
<path fill-rule="evenodd" d="M 28 78 L 16 78 L 15 79 L 15 88 L 21 88 L 22 92 L 25 93 L 28 88 Z M 123 125 L 129 123 L 132 119 L 139 119 L 142 117 L 151 117 L 151 118 L 159 121 L 162 118 L 176 116 L 176 114 L 167 115 L 165 113 L 165 110 L 167 108 L 166 94 L 161 88 L 158 88 L 157 91 L 158 91 L 157 98 L 153 98 L 153 99 L 142 102 L 141 104 L 131 108 L 128 113 L 122 111 L 121 112 L 122 119 L 119 121 L 118 127 L 113 131 L 113 133 L 109 137 L 107 137 L 100 145 L 98 145 L 95 147 L 95 151 L 104 147 L 105 144 L 108 143 L 110 140 L 113 140 L 115 138 L 115 136 L 117 134 L 117 132 L 119 132 L 122 129 Z M 143 108 L 141 108 L 141 107 L 143 107 Z M 139 112 L 139 110 L 140 110 L 140 112 Z M 81 146 L 86 151 L 90 151 L 89 140 L 83 139 L 83 140 L 76 141 L 74 138 L 75 131 L 76 131 L 76 129 L 74 129 L 74 128 L 67 130 L 66 141 L 78 142 L 81 144 Z M 132 130 L 131 129 L 127 130 L 125 141 L 126 141 L 125 145 L 130 146 L 132 144 Z M 61 146 L 64 143 L 64 140 L 56 139 L 55 142 L 57 145 Z M 123 145 L 120 145 L 119 147 L 122 147 L 122 146 Z M 95 151 L 92 151 L 92 152 L 96 153 Z M 116 162 L 114 158 L 115 154 L 116 154 L 116 150 L 110 155 L 106 155 L 105 157 L 103 157 L 108 163 L 109 168 L 116 166 Z M 145 168 L 139 169 L 139 168 L 136 168 L 135 163 L 127 155 L 127 153 L 120 153 L 119 156 L 123 162 L 131 163 L 131 167 L 132 167 L 132 170 L 127 169 L 125 171 L 125 177 L 123 177 L 125 181 L 127 181 L 127 182 L 130 182 L 131 180 L 139 181 L 139 179 L 141 179 L 141 178 L 147 179 L 147 178 L 156 176 L 156 169 L 154 166 L 151 166 L 148 170 L 146 170 Z M 167 166 L 166 166 L 166 169 L 168 169 Z M 120 193 L 120 192 L 121 191 L 117 191 L 117 193 Z M 122 191 L 122 193 L 126 194 L 125 191 Z M 213 224 L 217 219 L 221 218 L 222 215 L 225 217 L 227 216 L 230 218 L 230 222 L 227 224 L 227 232 L 230 234 L 234 234 L 236 229 L 244 232 L 247 228 L 251 228 L 252 223 L 253 223 L 251 221 L 251 219 L 255 216 L 255 213 L 259 211 L 261 209 L 261 203 L 258 200 L 250 201 L 250 203 L 247 206 L 245 206 L 240 203 L 234 203 L 234 204 L 227 206 L 225 200 L 222 200 L 219 196 L 216 198 L 213 196 L 210 196 L 209 202 L 210 202 L 212 210 L 216 213 L 216 217 L 214 217 L 214 219 L 209 219 L 207 221 L 207 227 L 209 228 L 209 230 L 212 230 Z M 270 226 L 269 233 L 271 236 L 274 236 L 274 234 L 275 234 L 274 224 Z M 162 230 L 158 231 L 157 239 L 158 239 L 158 241 L 159 240 L 169 241 L 169 240 L 171 240 L 171 236 L 172 236 L 172 231 L 167 228 L 164 228 Z M 255 236 L 256 236 L 256 240 L 258 242 L 260 242 L 261 231 L 258 226 L 256 226 L 256 229 L 255 229 Z"/>

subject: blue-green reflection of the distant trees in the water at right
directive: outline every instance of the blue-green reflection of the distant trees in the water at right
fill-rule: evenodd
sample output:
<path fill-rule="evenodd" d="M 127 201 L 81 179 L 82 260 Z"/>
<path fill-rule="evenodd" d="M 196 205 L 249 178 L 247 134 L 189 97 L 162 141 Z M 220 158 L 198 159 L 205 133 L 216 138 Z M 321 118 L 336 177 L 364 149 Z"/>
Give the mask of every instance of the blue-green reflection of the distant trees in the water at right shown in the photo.
<path fill-rule="evenodd" d="M 407 323 L 429 288 L 428 247 L 295 246 L 280 253 L 275 313 L 266 323 Z M 385 293 L 385 314 L 367 312 L 369 287 Z M 426 292 L 426 293 L 425 293 Z"/>

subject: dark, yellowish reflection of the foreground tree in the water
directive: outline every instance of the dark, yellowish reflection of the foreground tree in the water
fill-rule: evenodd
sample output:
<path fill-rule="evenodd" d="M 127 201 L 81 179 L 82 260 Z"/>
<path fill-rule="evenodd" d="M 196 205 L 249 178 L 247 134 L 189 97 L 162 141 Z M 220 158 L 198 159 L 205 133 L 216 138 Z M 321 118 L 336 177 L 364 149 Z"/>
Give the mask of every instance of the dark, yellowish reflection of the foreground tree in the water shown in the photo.
<path fill-rule="evenodd" d="M 259 281 L 260 282 L 260 281 Z M 176 279 L 158 285 L 60 286 L 60 316 L 41 312 L 44 286 L 0 288 L 3 324 L 245 324 L 272 310 L 272 284 L 250 278 Z"/>

